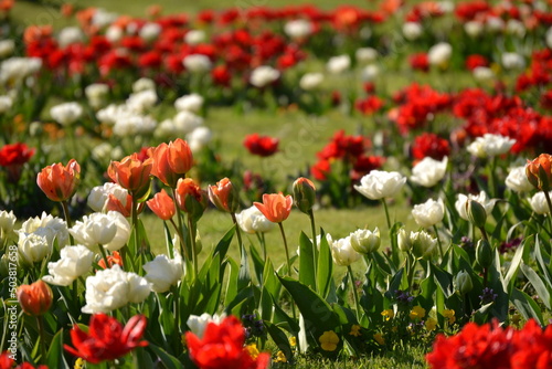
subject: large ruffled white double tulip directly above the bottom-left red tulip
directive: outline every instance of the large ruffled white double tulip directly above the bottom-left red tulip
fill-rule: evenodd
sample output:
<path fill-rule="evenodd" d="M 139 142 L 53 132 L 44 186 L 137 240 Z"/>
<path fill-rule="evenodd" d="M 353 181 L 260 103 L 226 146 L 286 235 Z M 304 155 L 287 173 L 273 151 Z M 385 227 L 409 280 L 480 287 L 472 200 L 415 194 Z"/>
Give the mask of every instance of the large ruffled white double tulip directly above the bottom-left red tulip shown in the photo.
<path fill-rule="evenodd" d="M 109 313 L 128 303 L 141 303 L 150 293 L 146 278 L 124 272 L 115 264 L 86 278 L 85 314 Z"/>

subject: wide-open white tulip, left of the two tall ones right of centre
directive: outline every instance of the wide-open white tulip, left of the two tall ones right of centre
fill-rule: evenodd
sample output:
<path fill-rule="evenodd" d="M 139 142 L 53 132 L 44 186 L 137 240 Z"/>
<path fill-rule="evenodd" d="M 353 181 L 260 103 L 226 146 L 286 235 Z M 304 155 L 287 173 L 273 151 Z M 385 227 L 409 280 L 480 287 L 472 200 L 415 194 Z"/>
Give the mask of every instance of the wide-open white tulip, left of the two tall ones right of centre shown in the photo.
<path fill-rule="evenodd" d="M 360 186 L 354 189 L 371 200 L 394 197 L 404 183 L 406 177 L 396 171 L 372 170 L 360 180 Z"/>

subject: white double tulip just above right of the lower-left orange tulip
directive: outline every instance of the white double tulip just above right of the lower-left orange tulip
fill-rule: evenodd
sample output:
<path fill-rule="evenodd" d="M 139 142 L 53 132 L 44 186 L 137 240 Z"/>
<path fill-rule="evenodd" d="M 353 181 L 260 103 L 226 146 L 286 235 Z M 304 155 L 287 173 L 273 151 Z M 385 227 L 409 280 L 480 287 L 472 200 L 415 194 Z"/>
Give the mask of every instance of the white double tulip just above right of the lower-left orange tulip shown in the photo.
<path fill-rule="evenodd" d="M 50 275 L 42 280 L 56 286 L 68 286 L 79 276 L 86 274 L 94 261 L 94 253 L 86 246 L 66 246 L 60 251 L 60 260 L 47 263 Z"/>

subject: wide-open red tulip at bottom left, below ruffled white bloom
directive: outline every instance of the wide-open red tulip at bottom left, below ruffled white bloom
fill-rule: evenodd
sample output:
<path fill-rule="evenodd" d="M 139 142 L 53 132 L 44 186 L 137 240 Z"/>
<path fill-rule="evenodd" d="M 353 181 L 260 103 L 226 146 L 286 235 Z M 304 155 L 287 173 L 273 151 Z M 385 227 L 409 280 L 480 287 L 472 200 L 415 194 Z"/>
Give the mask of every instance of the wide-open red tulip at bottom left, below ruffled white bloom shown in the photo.
<path fill-rule="evenodd" d="M 115 360 L 127 355 L 137 347 L 148 346 L 140 340 L 146 330 L 147 319 L 144 315 L 135 315 L 126 326 L 105 314 L 95 314 L 91 319 L 88 333 L 78 325 L 71 329 L 71 341 L 74 346 L 64 345 L 67 352 L 83 358 L 91 363 Z"/>

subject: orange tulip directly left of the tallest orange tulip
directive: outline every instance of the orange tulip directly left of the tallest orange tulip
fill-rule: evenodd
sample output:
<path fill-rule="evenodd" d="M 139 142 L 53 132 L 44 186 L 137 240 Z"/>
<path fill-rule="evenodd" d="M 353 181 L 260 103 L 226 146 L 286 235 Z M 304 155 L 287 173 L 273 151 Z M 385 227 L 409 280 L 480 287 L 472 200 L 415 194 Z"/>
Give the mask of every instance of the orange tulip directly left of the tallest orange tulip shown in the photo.
<path fill-rule="evenodd" d="M 149 192 L 151 168 L 153 160 L 147 158 L 140 160 L 138 154 L 123 158 L 120 161 L 112 161 L 107 169 L 109 178 L 130 192 L 134 199 L 142 199 Z"/>

